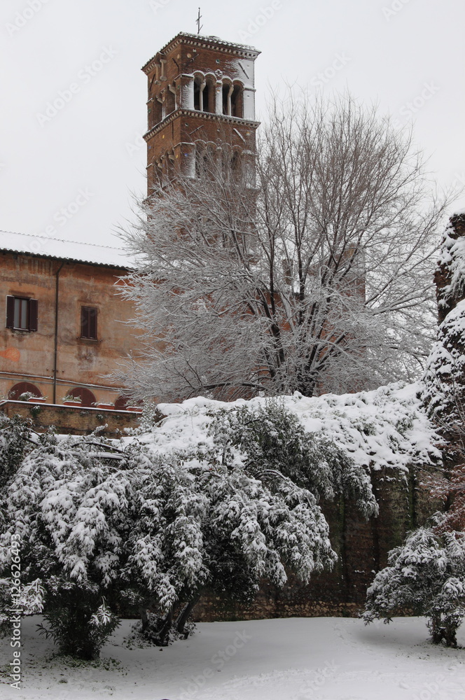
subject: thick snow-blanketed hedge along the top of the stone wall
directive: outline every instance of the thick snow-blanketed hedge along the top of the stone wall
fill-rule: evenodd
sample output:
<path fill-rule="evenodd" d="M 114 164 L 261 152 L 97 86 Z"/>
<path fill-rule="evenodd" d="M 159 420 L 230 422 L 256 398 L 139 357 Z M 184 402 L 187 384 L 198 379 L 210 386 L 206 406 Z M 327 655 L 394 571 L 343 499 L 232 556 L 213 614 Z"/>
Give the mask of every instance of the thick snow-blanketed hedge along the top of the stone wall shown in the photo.
<path fill-rule="evenodd" d="M 436 434 L 422 408 L 420 391 L 419 384 L 398 382 L 374 391 L 316 398 L 296 392 L 279 397 L 279 401 L 297 416 L 305 431 L 333 441 L 357 465 L 405 472 L 409 465 L 440 460 L 440 452 L 433 446 Z M 245 406 L 254 410 L 268 401 L 254 398 L 228 403 L 197 397 L 180 404 L 160 404 L 158 409 L 165 420 L 139 440 L 162 453 L 212 444 L 209 428 L 218 411 Z"/>

